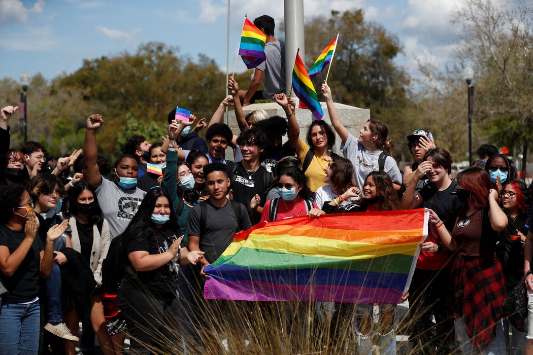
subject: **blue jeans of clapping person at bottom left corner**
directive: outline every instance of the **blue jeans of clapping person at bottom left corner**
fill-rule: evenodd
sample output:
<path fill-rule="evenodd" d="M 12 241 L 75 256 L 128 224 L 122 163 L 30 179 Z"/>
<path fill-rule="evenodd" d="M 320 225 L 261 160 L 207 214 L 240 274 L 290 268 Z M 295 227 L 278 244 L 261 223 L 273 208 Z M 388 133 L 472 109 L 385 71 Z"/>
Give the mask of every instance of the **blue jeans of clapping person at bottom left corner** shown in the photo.
<path fill-rule="evenodd" d="M 2 303 L 0 349 L 2 354 L 36 354 L 39 350 L 39 301 L 29 304 Z"/>

